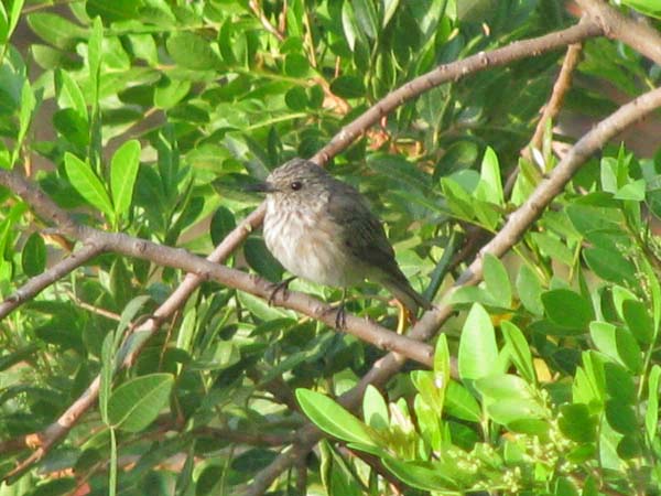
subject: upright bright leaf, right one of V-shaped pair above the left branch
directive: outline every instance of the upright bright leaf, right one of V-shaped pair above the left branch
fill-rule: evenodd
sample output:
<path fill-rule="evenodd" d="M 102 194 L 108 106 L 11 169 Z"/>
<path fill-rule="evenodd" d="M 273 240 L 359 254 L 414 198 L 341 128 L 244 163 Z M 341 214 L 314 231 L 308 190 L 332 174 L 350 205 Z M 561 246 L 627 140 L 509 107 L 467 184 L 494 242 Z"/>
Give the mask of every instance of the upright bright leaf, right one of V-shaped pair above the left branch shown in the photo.
<path fill-rule="evenodd" d="M 116 217 L 126 216 L 133 200 L 133 186 L 140 165 L 140 141 L 129 140 L 121 144 L 110 162 L 110 190 Z"/>

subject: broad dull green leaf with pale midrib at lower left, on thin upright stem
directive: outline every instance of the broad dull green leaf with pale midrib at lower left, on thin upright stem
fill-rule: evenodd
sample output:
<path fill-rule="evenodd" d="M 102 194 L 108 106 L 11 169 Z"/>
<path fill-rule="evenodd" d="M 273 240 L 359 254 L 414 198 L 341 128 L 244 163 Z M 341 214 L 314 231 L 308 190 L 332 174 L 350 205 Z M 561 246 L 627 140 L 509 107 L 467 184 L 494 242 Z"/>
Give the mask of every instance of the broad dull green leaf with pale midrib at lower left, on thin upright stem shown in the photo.
<path fill-rule="evenodd" d="M 139 432 L 152 423 L 170 400 L 172 374 L 151 374 L 119 386 L 108 401 L 108 419 L 118 429 Z"/>

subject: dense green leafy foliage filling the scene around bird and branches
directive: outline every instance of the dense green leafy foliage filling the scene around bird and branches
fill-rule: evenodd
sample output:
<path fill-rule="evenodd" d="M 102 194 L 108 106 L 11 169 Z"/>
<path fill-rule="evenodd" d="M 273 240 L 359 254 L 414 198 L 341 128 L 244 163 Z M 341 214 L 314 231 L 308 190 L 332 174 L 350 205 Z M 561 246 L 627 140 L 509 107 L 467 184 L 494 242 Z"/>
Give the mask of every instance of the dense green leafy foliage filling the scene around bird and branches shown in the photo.
<path fill-rule="evenodd" d="M 654 15 L 652 3 L 631 6 Z M 392 89 L 575 22 L 571 4 L 534 0 L 4 0 L 0 166 L 21 170 L 80 223 L 206 255 L 259 204 L 242 185 L 311 157 Z M 447 287 L 452 237 L 472 225 L 497 231 L 537 184 L 520 150 L 562 55 L 431 89 L 328 165 L 369 197 L 420 291 Z M 588 41 L 539 153 L 543 172 L 660 74 L 620 43 Z M 368 390 L 365 423 L 315 391 L 346 391 L 382 352 L 206 282 L 99 411 L 0 494 L 107 494 L 109 484 L 236 494 L 303 425 L 297 388 L 308 388 L 297 392 L 304 413 L 343 442 L 322 443 L 305 459 L 307 478 L 284 473 L 271 494 L 658 494 L 658 136 L 657 116 L 624 137 L 628 149 L 590 160 L 506 265 L 490 260 L 485 284 L 455 295 L 434 370 L 411 365 Z M 71 246 L 11 192 L 0 198 L 7 298 Z M 259 234 L 229 265 L 282 278 Z M 149 314 L 182 278 L 106 254 L 6 317 L 0 440 L 54 422 L 108 370 L 120 315 Z M 349 311 L 393 328 L 379 291 L 354 291 Z M 449 380 L 451 355 L 460 380 Z M 24 456 L 0 453 L 0 474 Z"/>

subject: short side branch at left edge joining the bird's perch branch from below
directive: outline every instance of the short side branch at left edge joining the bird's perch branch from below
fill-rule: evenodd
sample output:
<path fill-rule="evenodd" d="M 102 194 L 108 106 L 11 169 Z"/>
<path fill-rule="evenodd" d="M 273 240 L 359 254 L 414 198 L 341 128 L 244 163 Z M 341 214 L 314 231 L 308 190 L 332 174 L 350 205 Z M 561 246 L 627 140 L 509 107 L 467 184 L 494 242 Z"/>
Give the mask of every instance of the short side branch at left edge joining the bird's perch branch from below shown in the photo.
<path fill-rule="evenodd" d="M 18 306 L 29 300 L 32 300 L 50 284 L 62 279 L 67 273 L 76 270 L 78 267 L 83 266 L 101 251 L 104 251 L 102 245 L 86 244 L 65 259 L 55 263 L 46 271 L 33 277 L 13 294 L 7 296 L 7 299 L 0 303 L 0 319 L 4 319 Z"/>

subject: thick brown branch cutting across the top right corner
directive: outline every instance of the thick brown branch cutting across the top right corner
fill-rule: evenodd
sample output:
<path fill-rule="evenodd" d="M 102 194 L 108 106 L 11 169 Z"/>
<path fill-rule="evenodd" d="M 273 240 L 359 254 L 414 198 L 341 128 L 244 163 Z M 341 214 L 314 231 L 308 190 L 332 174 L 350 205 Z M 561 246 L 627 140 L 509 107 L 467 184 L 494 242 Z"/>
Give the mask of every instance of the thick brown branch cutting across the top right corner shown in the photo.
<path fill-rule="evenodd" d="M 619 40 L 661 65 L 661 34 L 646 22 L 635 21 L 602 0 L 576 0 L 604 34 Z"/>

